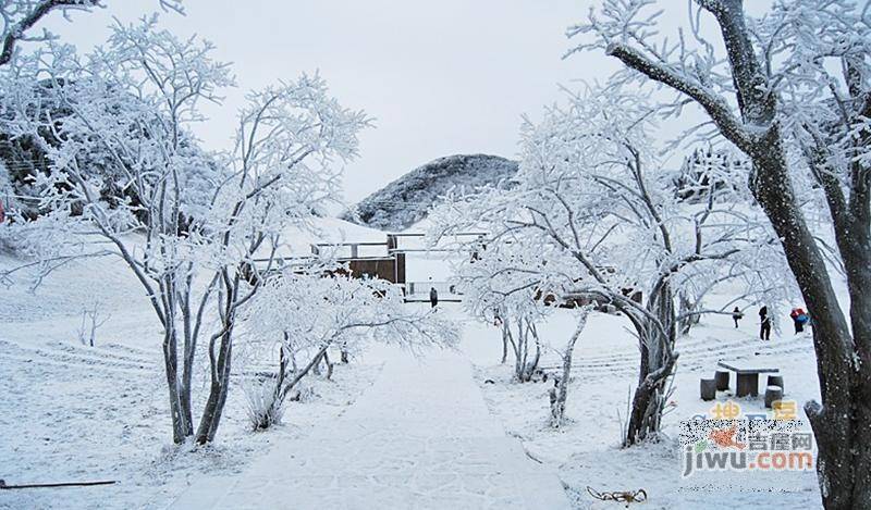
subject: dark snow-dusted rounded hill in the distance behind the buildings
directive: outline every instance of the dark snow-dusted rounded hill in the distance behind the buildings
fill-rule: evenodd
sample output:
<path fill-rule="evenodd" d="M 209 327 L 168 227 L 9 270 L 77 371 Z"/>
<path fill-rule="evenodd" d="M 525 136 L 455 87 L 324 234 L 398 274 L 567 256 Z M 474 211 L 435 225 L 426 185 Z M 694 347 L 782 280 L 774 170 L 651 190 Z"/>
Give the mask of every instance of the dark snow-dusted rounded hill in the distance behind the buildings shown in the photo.
<path fill-rule="evenodd" d="M 455 154 L 419 166 L 363 199 L 342 220 L 385 231 L 404 231 L 427 217 L 451 188 L 494 186 L 517 173 L 518 163 L 499 156 Z"/>

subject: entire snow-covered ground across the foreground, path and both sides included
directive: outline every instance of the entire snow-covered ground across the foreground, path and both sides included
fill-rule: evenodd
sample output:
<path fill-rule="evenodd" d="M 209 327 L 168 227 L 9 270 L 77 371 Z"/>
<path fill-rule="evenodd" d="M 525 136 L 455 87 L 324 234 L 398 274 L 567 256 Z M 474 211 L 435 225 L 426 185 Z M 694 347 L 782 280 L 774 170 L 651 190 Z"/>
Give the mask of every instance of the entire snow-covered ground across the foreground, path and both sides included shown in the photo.
<path fill-rule="evenodd" d="M 82 309 L 94 301 L 111 318 L 98 331 L 96 347 L 87 347 L 77 341 L 76 329 Z M 567 500 L 576 508 L 598 508 L 587 486 L 643 488 L 649 495 L 643 508 L 819 507 L 813 473 L 687 483 L 679 476 L 674 441 L 618 449 L 617 412 L 625 415 L 637 368 L 637 349 L 622 318 L 592 316 L 576 356 L 568 423 L 552 431 L 547 424 L 549 385 L 512 383 L 510 369 L 498 364 L 498 329 L 464 319 L 456 304 L 443 310 L 466 323 L 458 353 L 430 352 L 418 364 L 407 353 L 375 349 L 338 366 L 333 382 L 312 380 L 310 396 L 293 403 L 286 424 L 269 433 L 248 431 L 236 385 L 218 444 L 191 451 L 169 446 L 159 332 L 136 282 L 120 264 L 71 264 L 36 294 L 7 289 L 0 301 L 0 478 L 9 484 L 120 483 L 2 490 L 0 507 L 172 508 L 173 502 L 184 506 L 210 481 L 232 480 L 240 490 L 256 490 L 256 475 L 275 463 L 283 476 L 297 473 L 299 465 L 329 471 L 343 488 L 340 494 L 355 495 L 346 507 L 478 508 L 512 501 L 518 508 L 551 508 L 559 502 L 529 503 L 528 497 L 566 498 L 554 489 L 556 480 L 568 487 Z M 572 312 L 560 311 L 542 335 L 559 345 L 572 329 Z M 712 376 L 720 359 L 773 364 L 784 375 L 787 398 L 803 402 L 817 397 L 809 334 L 778 335 L 770 344 L 755 334 L 750 319 L 735 329 L 727 318 L 710 318 L 679 340 L 666 434 L 675 436 L 679 420 L 710 409 L 699 399 L 698 380 Z M 555 363 L 551 357 L 544 364 Z M 486 384 L 488 378 L 495 384 Z M 760 400 L 740 403 L 745 412 L 762 409 Z M 367 440 L 359 440 L 364 434 Z M 311 445 L 320 445 L 310 448 L 320 455 L 298 456 Z M 335 496 L 319 492 L 318 484 L 305 486 L 316 489 L 294 486 L 296 503 L 315 506 L 315 500 Z"/>

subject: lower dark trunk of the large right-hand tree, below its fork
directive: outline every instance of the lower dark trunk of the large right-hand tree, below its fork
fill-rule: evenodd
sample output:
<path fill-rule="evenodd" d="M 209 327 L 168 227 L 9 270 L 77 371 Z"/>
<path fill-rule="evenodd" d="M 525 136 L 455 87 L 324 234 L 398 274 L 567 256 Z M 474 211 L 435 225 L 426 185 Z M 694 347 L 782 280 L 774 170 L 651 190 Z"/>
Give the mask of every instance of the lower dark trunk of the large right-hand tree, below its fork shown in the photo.
<path fill-rule="evenodd" d="M 868 470 L 862 475 L 856 471 L 860 464 L 869 465 L 871 433 L 862 433 L 862 430 L 871 427 L 871 414 L 868 414 L 871 394 L 862 395 L 860 387 L 852 385 L 852 338 L 825 261 L 795 200 L 777 126 L 772 127 L 765 142 L 753 147 L 750 157 L 757 177 L 753 195 L 781 237 L 789 268 L 813 318 L 823 405 L 808 402 L 805 411 L 817 437 L 817 469 L 823 503 L 827 509 L 861 508 L 859 505 L 870 499 L 854 499 L 854 490 L 859 494 L 871 490 L 867 484 Z M 863 444 L 860 443 L 862 436 Z M 866 480 L 864 489 L 855 485 L 857 475 Z"/>

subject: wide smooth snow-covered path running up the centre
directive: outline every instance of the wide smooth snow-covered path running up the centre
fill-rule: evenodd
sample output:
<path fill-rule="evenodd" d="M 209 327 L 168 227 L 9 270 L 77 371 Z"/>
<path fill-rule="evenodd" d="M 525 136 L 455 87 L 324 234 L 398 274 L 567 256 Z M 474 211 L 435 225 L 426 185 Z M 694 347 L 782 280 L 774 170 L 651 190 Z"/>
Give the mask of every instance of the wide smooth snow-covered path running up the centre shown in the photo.
<path fill-rule="evenodd" d="M 555 473 L 505 435 L 468 360 L 391 357 L 377 382 L 311 436 L 173 508 L 569 508 Z"/>

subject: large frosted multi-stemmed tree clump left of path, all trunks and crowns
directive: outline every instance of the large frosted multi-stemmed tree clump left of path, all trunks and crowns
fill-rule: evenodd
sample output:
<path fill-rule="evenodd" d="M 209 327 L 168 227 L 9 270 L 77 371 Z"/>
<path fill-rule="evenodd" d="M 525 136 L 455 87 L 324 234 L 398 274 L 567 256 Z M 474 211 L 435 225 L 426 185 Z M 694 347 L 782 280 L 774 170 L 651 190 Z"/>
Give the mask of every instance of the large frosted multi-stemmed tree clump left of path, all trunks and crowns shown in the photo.
<path fill-rule="evenodd" d="M 2 130 L 36 140 L 51 163 L 35 183 L 48 214 L 27 225 L 61 227 L 83 245 L 96 238 L 142 283 L 163 328 L 176 443 L 194 435 L 193 364 L 211 307 L 218 325 L 207 345 L 211 384 L 198 443 L 212 440 L 220 423 L 240 309 L 272 268 L 284 228 L 334 198 L 332 165 L 356 154 L 368 124 L 320 77 L 303 76 L 250 94 L 234 150 L 207 154 L 191 134 L 204 120 L 199 104 L 220 101 L 233 84 L 211 51 L 150 18 L 116 25 L 86 58 L 52 45 L 4 76 Z M 62 121 L 45 115 L 52 109 L 44 101 L 63 109 Z M 110 175 L 83 164 L 95 152 Z"/>

